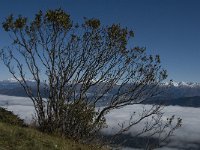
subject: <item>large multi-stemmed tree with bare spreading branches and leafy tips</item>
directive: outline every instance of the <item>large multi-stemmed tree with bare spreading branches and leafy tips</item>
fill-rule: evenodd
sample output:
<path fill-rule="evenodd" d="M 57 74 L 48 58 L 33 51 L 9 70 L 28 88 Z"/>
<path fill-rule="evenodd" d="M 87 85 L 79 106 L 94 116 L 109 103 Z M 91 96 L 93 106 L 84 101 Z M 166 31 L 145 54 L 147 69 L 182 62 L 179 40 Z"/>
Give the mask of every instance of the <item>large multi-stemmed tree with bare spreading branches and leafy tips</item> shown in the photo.
<path fill-rule="evenodd" d="M 107 113 L 155 96 L 167 77 L 159 56 L 131 47 L 133 31 L 119 24 L 103 26 L 94 18 L 77 24 L 57 9 L 39 11 L 32 21 L 10 15 L 3 28 L 13 43 L 2 49 L 2 60 L 33 101 L 42 131 L 88 139 L 105 127 Z M 149 116 L 159 118 L 160 111 L 153 105 L 119 133 Z"/>

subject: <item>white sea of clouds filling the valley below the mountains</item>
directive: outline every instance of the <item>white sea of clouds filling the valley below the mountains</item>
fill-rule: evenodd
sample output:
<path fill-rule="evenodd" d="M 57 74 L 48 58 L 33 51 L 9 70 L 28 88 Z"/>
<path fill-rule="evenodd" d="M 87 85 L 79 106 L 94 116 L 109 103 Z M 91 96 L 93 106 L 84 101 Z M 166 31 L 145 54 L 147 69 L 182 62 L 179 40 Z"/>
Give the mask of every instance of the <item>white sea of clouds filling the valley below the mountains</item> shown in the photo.
<path fill-rule="evenodd" d="M 14 97 L 0 95 L 0 106 L 13 111 L 19 115 L 27 123 L 31 122 L 34 117 L 34 107 L 32 101 L 29 98 Z M 122 123 L 130 118 L 132 112 L 141 112 L 143 108 L 150 108 L 150 105 L 134 105 L 127 106 L 123 109 L 117 109 L 112 111 L 106 116 L 108 128 L 103 130 L 107 134 L 113 134 L 116 132 L 119 126 L 117 123 Z M 200 108 L 192 107 L 180 107 L 180 106 L 166 106 L 163 110 L 165 112 L 164 118 L 175 115 L 183 119 L 183 125 L 181 128 L 176 130 L 174 136 L 171 137 L 171 142 L 162 150 L 189 150 L 189 149 L 200 149 Z M 142 126 L 142 125 L 141 125 Z M 140 127 L 136 126 L 129 131 L 129 134 L 135 134 Z M 134 148 L 124 148 L 134 149 Z"/>

